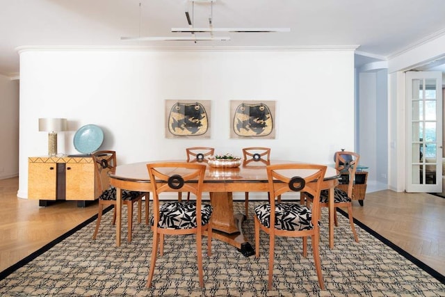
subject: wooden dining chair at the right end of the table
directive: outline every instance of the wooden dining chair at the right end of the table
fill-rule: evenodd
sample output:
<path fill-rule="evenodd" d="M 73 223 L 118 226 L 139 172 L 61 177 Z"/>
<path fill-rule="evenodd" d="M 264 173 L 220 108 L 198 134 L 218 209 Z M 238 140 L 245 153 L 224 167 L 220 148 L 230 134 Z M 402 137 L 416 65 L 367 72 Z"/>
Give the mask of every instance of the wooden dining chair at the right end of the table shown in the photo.
<path fill-rule="evenodd" d="M 348 209 L 348 217 L 350 228 L 353 231 L 354 239 L 359 242 L 357 232 L 355 231 L 353 218 L 353 187 L 355 180 L 355 171 L 359 165 L 359 154 L 355 152 L 336 152 L 335 168 L 341 173 L 343 179 L 348 182 L 348 190 L 336 187 L 334 189 L 334 223 L 338 226 L 337 207 L 346 207 Z M 343 185 L 342 185 L 343 186 Z M 302 201 L 307 200 L 308 203 L 314 201 L 314 197 L 310 193 L 302 193 Z M 329 207 L 329 190 L 322 190 L 320 194 L 320 207 Z"/>

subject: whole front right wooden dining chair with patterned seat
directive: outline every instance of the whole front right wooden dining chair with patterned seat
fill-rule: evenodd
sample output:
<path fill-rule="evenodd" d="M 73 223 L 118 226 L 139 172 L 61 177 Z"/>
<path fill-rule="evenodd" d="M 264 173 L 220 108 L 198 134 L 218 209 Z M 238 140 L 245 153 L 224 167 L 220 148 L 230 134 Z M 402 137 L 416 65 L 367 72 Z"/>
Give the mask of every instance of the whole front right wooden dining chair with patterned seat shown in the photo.
<path fill-rule="evenodd" d="M 297 203 L 275 203 L 278 195 L 288 192 L 306 191 L 315 198 L 320 197 L 321 183 L 325 177 L 326 166 L 307 163 L 288 163 L 266 166 L 270 203 L 254 208 L 255 216 L 255 257 L 259 257 L 259 232 L 269 234 L 269 271 L 268 289 L 272 288 L 273 257 L 275 236 L 302 237 L 302 255 L 307 257 L 307 237 L 311 237 L 312 254 L 318 277 L 318 284 L 325 289 L 318 251 L 320 214 L 319 199 L 314 199 L 312 208 Z M 273 222 L 273 223 L 271 223 Z M 294 253 L 290 246 L 287 252 Z"/>

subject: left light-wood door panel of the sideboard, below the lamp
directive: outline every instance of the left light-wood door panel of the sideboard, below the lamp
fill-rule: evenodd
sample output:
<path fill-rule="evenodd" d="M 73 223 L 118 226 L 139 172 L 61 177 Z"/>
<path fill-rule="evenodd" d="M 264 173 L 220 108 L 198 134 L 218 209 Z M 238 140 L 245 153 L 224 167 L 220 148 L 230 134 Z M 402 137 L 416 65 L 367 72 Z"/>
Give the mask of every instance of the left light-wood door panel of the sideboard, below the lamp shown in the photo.
<path fill-rule="evenodd" d="M 56 200 L 56 168 L 56 163 L 29 163 L 29 199 Z"/>

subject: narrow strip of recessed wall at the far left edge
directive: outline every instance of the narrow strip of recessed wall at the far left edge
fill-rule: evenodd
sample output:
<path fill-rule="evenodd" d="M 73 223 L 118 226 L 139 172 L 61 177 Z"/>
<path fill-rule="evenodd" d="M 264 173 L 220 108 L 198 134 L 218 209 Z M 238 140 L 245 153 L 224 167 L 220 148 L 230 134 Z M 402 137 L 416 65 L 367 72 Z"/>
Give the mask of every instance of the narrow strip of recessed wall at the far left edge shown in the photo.
<path fill-rule="evenodd" d="M 19 175 L 19 81 L 0 74 L 0 179 Z"/>

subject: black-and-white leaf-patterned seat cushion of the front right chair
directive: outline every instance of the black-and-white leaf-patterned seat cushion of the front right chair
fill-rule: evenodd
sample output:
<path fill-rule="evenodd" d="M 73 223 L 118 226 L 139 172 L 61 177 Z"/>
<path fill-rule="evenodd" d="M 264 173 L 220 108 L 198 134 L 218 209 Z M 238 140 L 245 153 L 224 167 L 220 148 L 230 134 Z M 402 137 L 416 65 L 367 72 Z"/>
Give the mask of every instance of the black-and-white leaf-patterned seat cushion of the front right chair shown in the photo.
<path fill-rule="evenodd" d="M 270 227 L 270 204 L 254 208 L 260 223 Z M 279 230 L 312 230 L 312 211 L 300 204 L 275 204 L 275 229 Z"/>

